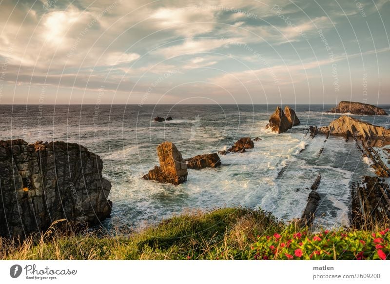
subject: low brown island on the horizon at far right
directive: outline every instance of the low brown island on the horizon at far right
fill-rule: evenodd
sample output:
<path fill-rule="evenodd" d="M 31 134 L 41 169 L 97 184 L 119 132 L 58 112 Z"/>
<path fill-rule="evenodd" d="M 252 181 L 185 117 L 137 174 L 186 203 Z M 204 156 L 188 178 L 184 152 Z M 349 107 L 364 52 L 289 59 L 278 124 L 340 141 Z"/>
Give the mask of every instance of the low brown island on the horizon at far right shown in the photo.
<path fill-rule="evenodd" d="M 340 101 L 336 107 L 331 108 L 328 112 L 357 115 L 387 115 L 386 111 L 380 107 L 355 101 Z"/>

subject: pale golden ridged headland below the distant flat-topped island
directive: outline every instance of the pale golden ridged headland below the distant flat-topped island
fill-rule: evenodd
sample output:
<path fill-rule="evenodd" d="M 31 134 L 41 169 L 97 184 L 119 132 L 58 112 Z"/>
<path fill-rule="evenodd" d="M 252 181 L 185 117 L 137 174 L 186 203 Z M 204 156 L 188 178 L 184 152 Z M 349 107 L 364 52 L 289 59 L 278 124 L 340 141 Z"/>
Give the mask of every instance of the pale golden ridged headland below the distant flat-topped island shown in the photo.
<path fill-rule="evenodd" d="M 368 122 L 362 122 L 357 119 L 341 116 L 332 121 L 329 126 L 320 127 L 318 133 L 342 135 L 346 138 L 353 136 L 364 140 L 372 139 L 390 139 L 390 130 L 382 126 L 372 125 Z"/>

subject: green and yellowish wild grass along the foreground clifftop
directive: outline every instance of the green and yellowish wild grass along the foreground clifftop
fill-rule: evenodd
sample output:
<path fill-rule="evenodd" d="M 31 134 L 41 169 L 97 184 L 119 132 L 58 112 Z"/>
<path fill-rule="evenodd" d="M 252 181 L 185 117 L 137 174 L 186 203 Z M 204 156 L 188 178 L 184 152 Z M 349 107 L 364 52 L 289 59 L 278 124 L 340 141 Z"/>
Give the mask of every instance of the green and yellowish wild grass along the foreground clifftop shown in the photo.
<path fill-rule="evenodd" d="M 387 224 L 384 224 L 387 226 Z M 60 227 L 60 228 L 59 228 Z M 0 259 L 2 260 L 232 260 L 262 259 L 267 254 L 269 259 L 284 259 L 290 248 L 283 254 L 269 249 L 270 245 L 280 246 L 292 238 L 293 234 L 304 232 L 309 241 L 303 248 L 305 258 L 312 253 L 310 242 L 314 236 L 309 228 L 300 228 L 296 222 L 289 224 L 278 221 L 272 214 L 262 210 L 245 208 L 220 208 L 211 212 L 193 212 L 164 220 L 158 225 L 149 226 L 130 235 L 107 235 L 101 232 L 77 231 L 69 224 L 58 222 L 43 236 L 30 236 L 23 242 L 0 238 Z M 335 231 L 336 232 L 336 231 Z M 354 229 L 339 229 L 348 232 L 349 239 L 333 238 L 334 242 L 345 245 L 356 244 L 362 236 L 368 240 L 372 232 Z M 358 234 L 360 232 L 360 235 Z M 280 234 L 280 238 L 274 238 Z M 320 232 L 323 234 L 323 232 Z M 361 235 L 363 234 L 363 235 Z M 277 235 L 276 235 L 277 236 Z M 271 240 L 271 241 L 270 241 Z M 370 240 L 372 241 L 372 240 Z M 273 244 L 267 243 L 273 242 Z M 291 249 L 299 242 L 291 242 Z M 385 253 L 389 253 L 389 236 L 383 238 Z M 332 244 L 328 247 L 332 248 Z M 340 247 L 342 247 L 342 245 Z M 338 246 L 337 246 L 338 247 Z M 353 259 L 357 253 L 337 254 L 337 259 Z M 315 248 L 317 250 L 317 248 Z M 351 250 L 351 249 L 350 249 Z M 365 259 L 378 258 L 375 247 L 370 246 Z M 280 250 L 281 251 L 281 250 Z M 348 251 L 348 246 L 347 246 Z M 293 251 L 292 251 L 293 254 Z M 325 254 L 323 254 L 325 257 Z M 328 257 L 329 255 L 326 254 Z M 331 256 L 334 258 L 334 255 Z M 295 259 L 303 259 L 297 258 Z M 315 255 L 313 259 L 320 259 Z"/>

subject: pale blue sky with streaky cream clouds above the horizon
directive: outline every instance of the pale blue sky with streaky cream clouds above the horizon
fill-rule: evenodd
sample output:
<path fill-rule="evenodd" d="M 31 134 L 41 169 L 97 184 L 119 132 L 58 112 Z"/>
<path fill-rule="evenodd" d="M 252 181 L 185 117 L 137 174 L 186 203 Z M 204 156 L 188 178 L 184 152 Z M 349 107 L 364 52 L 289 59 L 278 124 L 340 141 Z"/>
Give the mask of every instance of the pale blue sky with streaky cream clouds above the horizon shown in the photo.
<path fill-rule="evenodd" d="M 386 104 L 389 15 L 389 0 L 0 0 L 0 104 Z"/>

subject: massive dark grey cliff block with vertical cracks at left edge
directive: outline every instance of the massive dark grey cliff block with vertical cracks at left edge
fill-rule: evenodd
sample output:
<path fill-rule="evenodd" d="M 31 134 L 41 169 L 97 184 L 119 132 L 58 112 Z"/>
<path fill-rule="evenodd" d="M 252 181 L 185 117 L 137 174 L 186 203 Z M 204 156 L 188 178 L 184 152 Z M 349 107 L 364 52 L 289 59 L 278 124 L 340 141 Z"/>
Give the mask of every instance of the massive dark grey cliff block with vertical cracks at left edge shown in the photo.
<path fill-rule="evenodd" d="M 100 157 L 76 143 L 0 141 L 0 236 L 44 232 L 54 221 L 110 216 L 111 183 Z"/>

